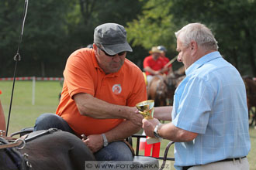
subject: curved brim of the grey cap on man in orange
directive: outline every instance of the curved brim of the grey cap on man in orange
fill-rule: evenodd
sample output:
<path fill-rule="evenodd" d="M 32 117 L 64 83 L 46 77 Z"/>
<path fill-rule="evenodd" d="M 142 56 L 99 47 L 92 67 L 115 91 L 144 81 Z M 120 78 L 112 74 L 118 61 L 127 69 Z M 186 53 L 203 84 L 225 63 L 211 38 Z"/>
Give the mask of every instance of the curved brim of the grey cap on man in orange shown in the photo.
<path fill-rule="evenodd" d="M 115 55 L 123 51 L 133 52 L 133 49 L 130 47 L 128 42 L 125 42 L 122 44 L 111 44 L 111 45 L 101 44 L 101 45 L 102 45 L 102 49 L 106 51 L 106 53 L 108 53 L 109 55 Z"/>

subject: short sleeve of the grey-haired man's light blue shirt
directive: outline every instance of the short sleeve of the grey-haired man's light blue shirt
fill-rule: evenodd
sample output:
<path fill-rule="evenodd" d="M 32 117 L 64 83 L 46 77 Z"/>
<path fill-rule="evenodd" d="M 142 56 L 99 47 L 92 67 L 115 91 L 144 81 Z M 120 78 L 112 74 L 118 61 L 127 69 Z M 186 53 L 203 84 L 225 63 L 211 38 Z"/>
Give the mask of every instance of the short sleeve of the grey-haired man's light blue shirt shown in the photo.
<path fill-rule="evenodd" d="M 175 110 L 176 116 L 172 123 L 186 131 L 204 134 L 212 110 L 214 93 L 213 87 L 206 80 L 198 77 L 189 80 L 182 93 L 175 92 L 178 109 Z"/>

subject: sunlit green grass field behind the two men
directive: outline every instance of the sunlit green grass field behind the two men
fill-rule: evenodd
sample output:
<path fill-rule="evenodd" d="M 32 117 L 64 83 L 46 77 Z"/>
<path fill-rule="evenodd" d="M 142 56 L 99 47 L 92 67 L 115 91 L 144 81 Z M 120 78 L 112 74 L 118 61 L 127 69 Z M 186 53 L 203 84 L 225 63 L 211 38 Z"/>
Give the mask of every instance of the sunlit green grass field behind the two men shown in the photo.
<path fill-rule="evenodd" d="M 9 104 L 12 90 L 12 81 L 0 81 L 0 90 L 2 94 L 0 99 L 5 110 L 5 119 L 9 114 Z M 36 117 L 43 113 L 54 113 L 58 100 L 58 94 L 61 92 L 61 84 L 59 81 L 36 81 L 35 104 L 32 105 L 32 82 L 16 81 L 14 97 L 12 100 L 12 112 L 9 124 L 9 134 L 19 131 L 22 128 L 32 127 L 36 121 Z M 250 169 L 256 170 L 256 129 L 250 128 L 251 151 L 247 156 Z M 135 144 L 135 142 L 133 142 Z M 168 141 L 161 142 L 161 153 L 164 155 L 165 146 Z M 133 145 L 134 147 L 136 145 Z M 141 152 L 143 154 L 143 152 Z M 169 157 L 173 157 L 173 146 L 168 152 Z M 168 169 L 173 168 L 174 162 L 167 162 L 171 165 Z"/>

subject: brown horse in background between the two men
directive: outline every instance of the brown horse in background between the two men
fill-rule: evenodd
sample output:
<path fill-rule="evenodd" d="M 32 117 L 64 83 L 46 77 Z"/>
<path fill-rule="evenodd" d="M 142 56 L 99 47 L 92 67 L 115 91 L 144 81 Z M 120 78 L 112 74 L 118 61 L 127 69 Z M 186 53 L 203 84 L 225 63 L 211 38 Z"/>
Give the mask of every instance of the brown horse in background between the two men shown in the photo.
<path fill-rule="evenodd" d="M 154 100 L 154 106 L 170 106 L 178 84 L 185 78 L 185 69 L 182 66 L 174 73 L 154 76 L 147 85 L 147 98 Z"/>

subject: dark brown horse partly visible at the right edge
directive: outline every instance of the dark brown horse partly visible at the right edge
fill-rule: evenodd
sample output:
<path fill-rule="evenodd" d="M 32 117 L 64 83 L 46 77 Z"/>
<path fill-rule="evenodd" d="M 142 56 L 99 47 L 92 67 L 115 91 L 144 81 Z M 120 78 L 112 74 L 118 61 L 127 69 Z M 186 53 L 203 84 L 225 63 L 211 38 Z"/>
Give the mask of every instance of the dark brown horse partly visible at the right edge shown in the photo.
<path fill-rule="evenodd" d="M 249 118 L 251 118 L 250 125 L 256 125 L 256 82 L 250 77 L 246 76 L 243 77 L 243 80 L 247 94 L 248 116 Z M 252 117 L 250 115 L 250 111 L 252 113 Z"/>

